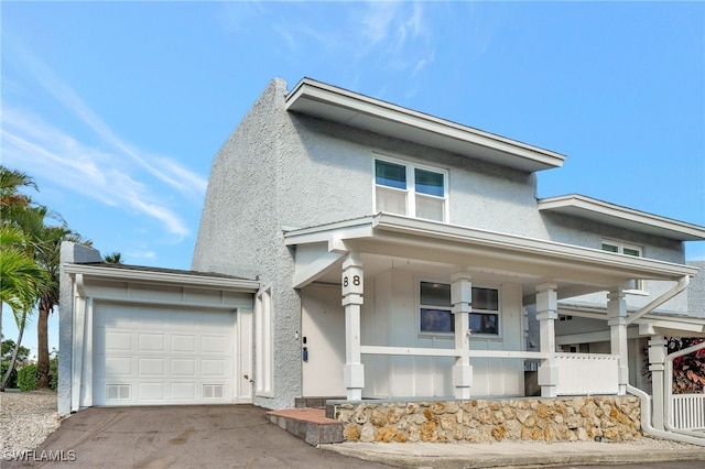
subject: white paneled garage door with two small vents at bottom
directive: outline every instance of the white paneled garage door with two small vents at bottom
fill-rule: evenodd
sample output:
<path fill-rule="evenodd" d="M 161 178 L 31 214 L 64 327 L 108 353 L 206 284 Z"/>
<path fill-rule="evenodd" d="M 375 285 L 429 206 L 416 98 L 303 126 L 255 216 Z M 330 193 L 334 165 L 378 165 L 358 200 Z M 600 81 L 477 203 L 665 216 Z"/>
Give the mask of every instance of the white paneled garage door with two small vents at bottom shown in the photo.
<path fill-rule="evenodd" d="M 95 305 L 96 405 L 234 401 L 235 313 Z"/>

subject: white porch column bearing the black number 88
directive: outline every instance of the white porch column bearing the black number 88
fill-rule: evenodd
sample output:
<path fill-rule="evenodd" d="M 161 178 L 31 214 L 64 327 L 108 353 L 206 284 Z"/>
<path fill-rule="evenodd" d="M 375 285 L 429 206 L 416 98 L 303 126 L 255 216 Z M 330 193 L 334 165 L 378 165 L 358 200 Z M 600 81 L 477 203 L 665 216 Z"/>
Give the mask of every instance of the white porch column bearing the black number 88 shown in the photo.
<path fill-rule="evenodd" d="M 360 355 L 360 307 L 362 305 L 362 260 L 350 252 L 343 262 L 343 306 L 345 307 L 345 366 L 343 382 L 349 401 L 362 399 L 365 369 Z"/>

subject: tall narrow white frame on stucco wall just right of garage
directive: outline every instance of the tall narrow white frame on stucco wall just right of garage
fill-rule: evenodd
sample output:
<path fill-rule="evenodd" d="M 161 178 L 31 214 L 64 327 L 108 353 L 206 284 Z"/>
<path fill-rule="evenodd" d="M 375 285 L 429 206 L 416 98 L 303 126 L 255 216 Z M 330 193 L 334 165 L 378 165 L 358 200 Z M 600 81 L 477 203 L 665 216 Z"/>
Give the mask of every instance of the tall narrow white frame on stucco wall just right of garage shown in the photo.
<path fill-rule="evenodd" d="M 274 330 L 272 287 L 267 286 L 254 297 L 254 395 L 274 395 Z"/>

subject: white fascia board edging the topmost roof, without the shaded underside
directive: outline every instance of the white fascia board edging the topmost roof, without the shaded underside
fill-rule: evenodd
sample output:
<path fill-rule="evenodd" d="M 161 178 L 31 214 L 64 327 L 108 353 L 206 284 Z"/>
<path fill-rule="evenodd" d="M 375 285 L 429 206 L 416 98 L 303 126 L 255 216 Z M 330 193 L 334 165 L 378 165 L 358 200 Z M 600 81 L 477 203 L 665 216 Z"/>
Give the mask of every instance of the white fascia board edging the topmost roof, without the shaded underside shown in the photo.
<path fill-rule="evenodd" d="M 376 116 L 390 121 L 415 127 L 429 132 L 453 138 L 459 141 L 486 146 L 496 151 L 513 154 L 545 165 L 545 168 L 561 167 L 565 155 L 533 146 L 494 133 L 485 132 L 431 114 L 414 111 L 388 101 L 334 87 L 311 78 L 303 78 L 285 97 L 285 108 L 306 94 L 311 99 L 349 109 L 355 112 Z"/>

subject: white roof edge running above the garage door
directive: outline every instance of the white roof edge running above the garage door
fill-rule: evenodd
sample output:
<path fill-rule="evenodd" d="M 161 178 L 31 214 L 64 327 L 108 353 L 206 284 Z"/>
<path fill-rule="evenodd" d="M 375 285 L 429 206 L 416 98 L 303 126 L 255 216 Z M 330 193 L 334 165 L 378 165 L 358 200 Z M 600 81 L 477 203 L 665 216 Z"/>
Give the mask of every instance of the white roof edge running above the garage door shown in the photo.
<path fill-rule="evenodd" d="M 210 275 L 194 271 L 174 271 L 142 266 L 120 265 L 119 269 L 100 264 L 66 263 L 63 265 L 69 275 L 82 274 L 87 279 L 117 282 L 134 282 L 160 285 L 189 286 L 206 290 L 227 290 L 230 292 L 256 293 L 260 283 L 256 280 L 238 279 L 226 275 Z"/>

